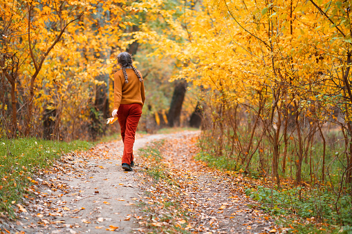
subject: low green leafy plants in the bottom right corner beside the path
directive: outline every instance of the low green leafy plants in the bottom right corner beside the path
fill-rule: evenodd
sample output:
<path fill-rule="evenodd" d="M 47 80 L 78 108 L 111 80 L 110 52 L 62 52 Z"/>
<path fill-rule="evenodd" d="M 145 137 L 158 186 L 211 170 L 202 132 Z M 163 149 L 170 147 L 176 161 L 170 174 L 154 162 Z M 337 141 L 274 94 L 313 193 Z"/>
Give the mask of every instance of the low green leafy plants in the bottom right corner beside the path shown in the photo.
<path fill-rule="evenodd" d="M 261 208 L 274 215 L 295 213 L 300 217 L 315 219 L 328 224 L 352 224 L 349 195 L 337 196 L 317 188 L 304 190 L 302 187 L 275 190 L 263 186 L 247 188 L 246 195 L 261 203 Z"/>

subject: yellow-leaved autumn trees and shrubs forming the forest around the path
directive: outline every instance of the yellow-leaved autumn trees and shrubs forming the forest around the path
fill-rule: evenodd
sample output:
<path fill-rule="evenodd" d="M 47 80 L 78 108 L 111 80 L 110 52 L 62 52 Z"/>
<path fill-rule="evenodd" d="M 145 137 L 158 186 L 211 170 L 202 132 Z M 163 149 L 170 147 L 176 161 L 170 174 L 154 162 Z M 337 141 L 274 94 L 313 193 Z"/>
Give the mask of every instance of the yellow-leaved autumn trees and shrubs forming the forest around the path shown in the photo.
<path fill-rule="evenodd" d="M 201 126 L 201 159 L 275 182 L 277 195 L 247 191 L 266 210 L 285 204 L 351 224 L 350 1 L 0 6 L 1 137 L 95 140 L 117 131 L 105 123 L 115 58 L 128 51 L 145 79 L 140 130 Z"/>

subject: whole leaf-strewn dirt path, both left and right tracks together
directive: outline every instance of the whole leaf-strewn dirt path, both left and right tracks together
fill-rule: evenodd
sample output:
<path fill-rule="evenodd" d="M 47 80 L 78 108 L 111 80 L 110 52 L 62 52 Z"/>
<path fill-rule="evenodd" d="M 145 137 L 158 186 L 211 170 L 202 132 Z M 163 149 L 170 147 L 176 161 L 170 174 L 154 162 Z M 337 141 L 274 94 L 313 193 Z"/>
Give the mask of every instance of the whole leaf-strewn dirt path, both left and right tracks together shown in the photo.
<path fill-rule="evenodd" d="M 89 151 L 65 155 L 52 170 L 39 172 L 42 176 L 33 178 L 35 185 L 30 188 L 37 198 L 24 199 L 22 211 L 26 212 L 6 228 L 13 233 L 147 233 L 156 226 L 159 233 L 172 225 L 160 217 L 176 212 L 173 206 L 166 211 L 165 201 L 178 201 L 191 218 L 186 223 L 177 217 L 177 228 L 189 233 L 275 233 L 270 218 L 248 206 L 253 203 L 243 194 L 241 176 L 212 170 L 193 159 L 196 135 L 185 131 L 136 138 L 135 152 L 165 139 L 160 148 L 162 164 L 178 188 L 144 177 L 153 162 L 138 164 L 138 155 L 133 172 L 124 172 L 121 141 L 98 144 Z M 154 216 L 135 206 L 141 202 L 153 204 Z"/>

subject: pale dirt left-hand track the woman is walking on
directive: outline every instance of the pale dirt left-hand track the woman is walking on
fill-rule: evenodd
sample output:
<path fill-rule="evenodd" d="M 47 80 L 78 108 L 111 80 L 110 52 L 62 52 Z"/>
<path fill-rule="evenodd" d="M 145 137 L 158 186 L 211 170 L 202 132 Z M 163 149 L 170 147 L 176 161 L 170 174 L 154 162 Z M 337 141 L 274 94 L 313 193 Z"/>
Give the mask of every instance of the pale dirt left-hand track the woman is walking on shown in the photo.
<path fill-rule="evenodd" d="M 145 135 L 137 137 L 136 152 L 148 142 L 172 137 Z M 124 172 L 121 168 L 122 141 L 98 144 L 78 155 L 65 155 L 53 170 L 32 178 L 30 188 L 37 199 L 24 199 L 22 212 L 10 230 L 25 233 L 130 233 L 138 208 L 133 206 L 143 195 L 138 185 L 136 168 Z"/>

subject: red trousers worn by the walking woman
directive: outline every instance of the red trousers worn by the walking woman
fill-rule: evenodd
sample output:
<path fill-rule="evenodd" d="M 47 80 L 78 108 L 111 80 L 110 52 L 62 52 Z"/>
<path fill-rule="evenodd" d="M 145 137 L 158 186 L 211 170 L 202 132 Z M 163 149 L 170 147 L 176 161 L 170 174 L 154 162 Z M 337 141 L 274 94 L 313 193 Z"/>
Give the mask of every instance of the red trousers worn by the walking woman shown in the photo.
<path fill-rule="evenodd" d="M 141 104 L 121 104 L 118 108 L 118 123 L 121 128 L 122 142 L 124 143 L 122 164 L 131 165 L 133 161 L 133 144 L 141 115 Z"/>

